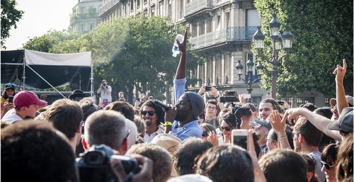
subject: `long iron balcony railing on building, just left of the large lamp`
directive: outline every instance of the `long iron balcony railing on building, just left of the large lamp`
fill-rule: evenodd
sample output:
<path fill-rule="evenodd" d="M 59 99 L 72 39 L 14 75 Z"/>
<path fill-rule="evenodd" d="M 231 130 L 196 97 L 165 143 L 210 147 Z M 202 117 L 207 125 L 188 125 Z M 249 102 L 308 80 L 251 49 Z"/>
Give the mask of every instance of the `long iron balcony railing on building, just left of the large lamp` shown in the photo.
<path fill-rule="evenodd" d="M 192 37 L 190 42 L 194 44 L 193 49 L 207 47 L 215 43 L 227 41 L 252 40 L 252 35 L 257 31 L 256 26 L 227 27 L 213 32 Z"/>

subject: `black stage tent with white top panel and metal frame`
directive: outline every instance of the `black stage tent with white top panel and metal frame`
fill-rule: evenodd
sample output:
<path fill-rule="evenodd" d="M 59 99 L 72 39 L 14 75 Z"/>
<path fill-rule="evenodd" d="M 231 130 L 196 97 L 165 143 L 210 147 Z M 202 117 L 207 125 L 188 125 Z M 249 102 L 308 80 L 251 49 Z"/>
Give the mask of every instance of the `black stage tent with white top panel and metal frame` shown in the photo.
<path fill-rule="evenodd" d="M 91 97 L 94 95 L 91 52 L 52 54 L 18 50 L 2 51 L 1 54 L 2 83 L 15 83 L 23 90 L 26 86 L 38 89 L 52 87 L 62 96 L 63 92 L 55 87 L 70 84 L 73 89 L 81 89 Z"/>

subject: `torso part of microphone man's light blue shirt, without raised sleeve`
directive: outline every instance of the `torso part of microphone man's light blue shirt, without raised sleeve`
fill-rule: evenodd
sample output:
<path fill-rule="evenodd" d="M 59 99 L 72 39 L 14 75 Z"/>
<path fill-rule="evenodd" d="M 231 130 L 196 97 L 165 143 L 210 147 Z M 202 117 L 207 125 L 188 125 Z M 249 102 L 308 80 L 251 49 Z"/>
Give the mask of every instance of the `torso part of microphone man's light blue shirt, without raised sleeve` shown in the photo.
<path fill-rule="evenodd" d="M 198 124 L 198 119 L 185 124 L 183 127 L 178 127 L 178 121 L 172 123 L 172 134 L 182 141 L 191 136 L 202 138 L 202 133 L 203 130 Z"/>

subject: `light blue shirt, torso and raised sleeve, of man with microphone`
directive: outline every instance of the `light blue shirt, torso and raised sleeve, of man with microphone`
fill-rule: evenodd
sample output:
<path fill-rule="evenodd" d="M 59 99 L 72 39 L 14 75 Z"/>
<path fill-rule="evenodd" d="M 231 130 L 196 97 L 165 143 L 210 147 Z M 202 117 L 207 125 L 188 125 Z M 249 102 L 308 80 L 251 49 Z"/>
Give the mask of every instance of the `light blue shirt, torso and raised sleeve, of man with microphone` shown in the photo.
<path fill-rule="evenodd" d="M 176 104 L 178 99 L 185 93 L 186 82 L 186 78 L 173 80 L 174 104 Z M 198 124 L 198 119 L 185 124 L 183 127 L 178 127 L 178 121 L 173 121 L 172 123 L 172 134 L 182 141 L 191 136 L 202 138 L 202 133 L 203 130 Z"/>

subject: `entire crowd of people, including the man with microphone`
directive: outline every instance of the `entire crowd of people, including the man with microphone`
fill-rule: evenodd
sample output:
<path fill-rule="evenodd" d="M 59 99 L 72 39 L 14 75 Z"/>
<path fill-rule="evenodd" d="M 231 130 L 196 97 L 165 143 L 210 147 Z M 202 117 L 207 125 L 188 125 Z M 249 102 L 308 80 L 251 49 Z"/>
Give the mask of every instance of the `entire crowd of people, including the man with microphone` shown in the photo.
<path fill-rule="evenodd" d="M 100 109 L 92 98 L 75 91 L 69 99 L 47 106 L 31 92 L 15 95 L 7 84 L 1 104 L 3 177 L 35 181 L 353 180 L 353 100 L 344 93 L 345 60 L 333 72 L 337 93 L 331 108 L 311 103 L 290 108 L 270 96 L 257 108 L 245 102 L 246 94 L 238 96 L 234 90 L 221 96 L 214 86 L 185 92 L 187 29 L 184 35 L 184 41 L 178 41 L 182 54 L 173 80 L 174 104 L 161 107 L 142 95 L 132 106 L 119 93 L 119 100 Z M 105 80 L 102 83 L 107 85 Z M 201 96 L 205 93 L 211 98 L 206 102 Z M 10 95 L 15 96 L 13 103 L 8 102 Z M 233 129 L 247 130 L 246 147 L 232 143 Z M 15 168 L 22 169 L 21 175 Z"/>

